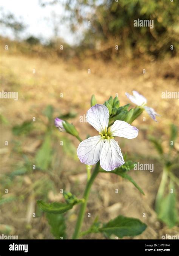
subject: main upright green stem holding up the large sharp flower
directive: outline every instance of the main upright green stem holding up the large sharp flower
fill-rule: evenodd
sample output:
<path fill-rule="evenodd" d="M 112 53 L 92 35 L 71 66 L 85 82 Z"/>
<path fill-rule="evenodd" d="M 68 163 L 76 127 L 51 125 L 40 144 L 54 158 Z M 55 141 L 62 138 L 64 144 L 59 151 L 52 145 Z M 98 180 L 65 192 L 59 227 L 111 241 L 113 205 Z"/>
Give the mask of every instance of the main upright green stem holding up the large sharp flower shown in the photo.
<path fill-rule="evenodd" d="M 80 229 L 81 229 L 81 226 L 82 226 L 82 223 L 83 223 L 84 214 L 85 214 L 85 210 L 86 210 L 86 205 L 87 205 L 87 202 L 88 202 L 90 188 L 91 188 L 91 185 L 93 184 L 94 179 L 96 178 L 98 173 L 99 173 L 99 162 L 96 163 L 93 174 L 91 175 L 91 178 L 89 179 L 89 181 L 86 184 L 85 192 L 84 192 L 84 195 L 83 195 L 83 198 L 85 199 L 85 202 L 81 204 L 78 219 L 77 219 L 77 223 L 76 223 L 76 227 L 75 227 L 75 231 L 74 231 L 72 239 L 78 239 L 78 237 L 79 237 Z"/>

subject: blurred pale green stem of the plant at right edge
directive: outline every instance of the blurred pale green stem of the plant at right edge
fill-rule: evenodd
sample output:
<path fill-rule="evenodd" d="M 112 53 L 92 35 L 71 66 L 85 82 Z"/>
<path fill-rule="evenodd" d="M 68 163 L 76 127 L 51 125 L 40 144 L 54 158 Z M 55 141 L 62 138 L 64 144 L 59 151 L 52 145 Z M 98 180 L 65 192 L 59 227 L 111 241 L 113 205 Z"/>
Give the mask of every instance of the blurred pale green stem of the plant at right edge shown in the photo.
<path fill-rule="evenodd" d="M 168 178 L 168 168 L 166 166 L 164 166 L 163 173 L 162 173 L 162 179 L 161 179 L 160 186 L 159 186 L 159 189 L 158 189 L 158 192 L 156 195 L 155 209 L 156 209 L 157 213 L 159 212 L 159 209 L 160 209 L 160 201 L 162 199 L 162 196 L 164 195 L 167 178 Z"/>

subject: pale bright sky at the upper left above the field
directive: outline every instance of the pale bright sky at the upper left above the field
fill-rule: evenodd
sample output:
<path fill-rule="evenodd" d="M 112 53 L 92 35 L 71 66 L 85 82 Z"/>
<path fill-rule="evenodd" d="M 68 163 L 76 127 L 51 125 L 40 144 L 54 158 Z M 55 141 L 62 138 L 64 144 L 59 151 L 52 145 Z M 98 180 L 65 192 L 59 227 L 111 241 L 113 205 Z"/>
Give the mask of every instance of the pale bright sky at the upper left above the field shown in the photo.
<path fill-rule="evenodd" d="M 61 0 L 61 3 L 64 1 L 65 0 Z M 43 2 L 50 1 L 46 0 Z M 48 39 L 52 38 L 54 35 L 52 20 L 55 14 L 58 20 L 65 12 L 61 3 L 41 7 L 39 0 L 5 0 L 0 2 L 0 8 L 5 14 L 14 14 L 18 20 L 22 20 L 26 25 L 25 31 L 20 34 L 21 38 L 34 35 L 48 41 Z M 4 26 L 0 26 L 0 35 L 14 39 L 12 30 Z M 79 35 L 71 33 L 68 22 L 64 24 L 64 22 L 61 21 L 59 25 L 59 37 L 65 39 L 69 44 L 74 44 L 77 42 Z"/>

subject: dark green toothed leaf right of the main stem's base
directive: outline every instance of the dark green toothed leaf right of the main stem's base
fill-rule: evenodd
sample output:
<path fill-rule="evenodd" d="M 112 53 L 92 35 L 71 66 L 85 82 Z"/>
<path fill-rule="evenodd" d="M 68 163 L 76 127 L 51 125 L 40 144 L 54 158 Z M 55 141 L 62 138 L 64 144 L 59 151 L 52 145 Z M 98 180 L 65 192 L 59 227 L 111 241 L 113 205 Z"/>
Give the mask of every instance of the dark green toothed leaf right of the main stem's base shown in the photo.
<path fill-rule="evenodd" d="M 122 238 L 124 236 L 140 235 L 146 228 L 147 225 L 136 218 L 128 218 L 119 215 L 117 218 L 104 224 L 99 231 L 106 237 L 115 235 Z"/>

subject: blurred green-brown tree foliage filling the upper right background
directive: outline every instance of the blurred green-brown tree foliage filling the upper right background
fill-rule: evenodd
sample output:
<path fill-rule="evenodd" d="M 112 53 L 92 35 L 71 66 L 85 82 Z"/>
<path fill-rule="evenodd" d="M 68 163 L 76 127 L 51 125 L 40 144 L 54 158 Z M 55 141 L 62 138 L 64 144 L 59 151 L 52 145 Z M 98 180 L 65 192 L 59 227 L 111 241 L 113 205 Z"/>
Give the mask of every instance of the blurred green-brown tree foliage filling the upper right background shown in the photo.
<path fill-rule="evenodd" d="M 81 48 L 96 49 L 96 42 L 100 42 L 103 58 L 116 58 L 121 52 L 128 57 L 146 53 L 155 57 L 168 52 L 175 55 L 179 49 L 178 43 L 178 12 L 177 1 L 168 0 L 69 0 L 66 9 L 71 13 L 71 28 L 74 24 L 86 22 L 88 13 L 93 12 L 91 26 L 83 37 Z M 84 11 L 85 10 L 85 11 Z M 153 20 L 154 27 L 134 27 L 134 20 Z M 120 51 L 113 51 L 115 45 Z M 170 50 L 170 45 L 174 50 Z M 115 52 L 115 53 L 114 53 Z"/>

